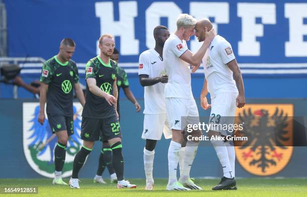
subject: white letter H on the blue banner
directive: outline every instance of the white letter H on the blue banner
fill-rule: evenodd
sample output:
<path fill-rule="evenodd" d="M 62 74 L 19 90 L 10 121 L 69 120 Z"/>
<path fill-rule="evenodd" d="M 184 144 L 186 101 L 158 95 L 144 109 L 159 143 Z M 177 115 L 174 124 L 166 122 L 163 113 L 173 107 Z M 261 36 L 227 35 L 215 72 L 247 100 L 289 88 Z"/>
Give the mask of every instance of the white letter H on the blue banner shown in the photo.
<path fill-rule="evenodd" d="M 137 16 L 136 1 L 119 2 L 119 21 L 114 21 L 113 3 L 95 3 L 96 17 L 100 18 L 100 34 L 120 36 L 120 54 L 138 55 L 139 42 L 135 40 L 134 17 Z M 97 54 L 100 53 L 97 41 Z"/>

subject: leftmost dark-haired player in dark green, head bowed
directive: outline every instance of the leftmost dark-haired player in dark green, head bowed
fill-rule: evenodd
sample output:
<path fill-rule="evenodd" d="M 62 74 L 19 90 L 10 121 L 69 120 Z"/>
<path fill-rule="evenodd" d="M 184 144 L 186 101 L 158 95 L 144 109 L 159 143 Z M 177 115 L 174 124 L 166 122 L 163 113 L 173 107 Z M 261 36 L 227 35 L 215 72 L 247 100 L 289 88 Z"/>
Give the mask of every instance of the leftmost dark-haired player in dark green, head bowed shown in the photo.
<path fill-rule="evenodd" d="M 75 42 L 70 38 L 61 41 L 58 55 L 47 60 L 42 68 L 40 88 L 40 113 L 38 121 L 44 124 L 45 103 L 50 128 L 58 138 L 54 149 L 55 178 L 52 184 L 66 184 L 62 180 L 66 145 L 73 129 L 73 91 L 84 106 L 85 99 L 79 84 L 78 68 L 71 60 L 75 52 Z"/>

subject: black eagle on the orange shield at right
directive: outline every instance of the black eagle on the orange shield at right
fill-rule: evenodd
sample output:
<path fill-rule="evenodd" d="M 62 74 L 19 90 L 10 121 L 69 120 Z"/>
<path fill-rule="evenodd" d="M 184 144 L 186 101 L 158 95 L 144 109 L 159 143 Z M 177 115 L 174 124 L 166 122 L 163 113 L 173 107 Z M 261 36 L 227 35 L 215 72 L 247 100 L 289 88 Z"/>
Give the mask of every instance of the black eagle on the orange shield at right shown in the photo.
<path fill-rule="evenodd" d="M 287 149 L 286 144 L 290 139 L 286 129 L 288 115 L 278 108 L 272 115 L 269 115 L 264 109 L 252 113 L 249 108 L 244 109 L 242 114 L 239 113 L 238 118 L 241 123 L 244 123 L 243 132 L 240 132 L 240 135 L 248 137 L 248 140 L 239 147 L 246 149 L 242 155 L 244 160 L 249 157 L 253 158 L 253 155 L 260 155 L 260 157 L 257 156 L 258 159 L 250 160 L 249 165 L 256 165 L 257 168 L 261 168 L 262 172 L 266 172 L 269 165 L 276 165 L 283 157 L 283 153 L 278 153 L 275 147 Z M 271 157 L 267 158 L 268 155 Z"/>

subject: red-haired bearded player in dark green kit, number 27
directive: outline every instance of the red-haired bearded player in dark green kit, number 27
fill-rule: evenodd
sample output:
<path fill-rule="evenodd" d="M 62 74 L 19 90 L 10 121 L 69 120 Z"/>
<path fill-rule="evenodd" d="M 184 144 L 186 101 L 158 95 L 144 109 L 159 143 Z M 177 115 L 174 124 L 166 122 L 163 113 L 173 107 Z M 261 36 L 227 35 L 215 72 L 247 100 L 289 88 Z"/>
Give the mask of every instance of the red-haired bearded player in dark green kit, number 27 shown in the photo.
<path fill-rule="evenodd" d="M 135 188 L 135 184 L 123 178 L 124 160 L 122 156 L 121 129 L 116 112 L 116 74 L 117 63 L 110 60 L 114 50 L 113 36 L 99 38 L 100 54 L 88 61 L 85 68 L 86 103 L 82 112 L 81 139 L 83 145 L 76 154 L 69 185 L 80 188 L 78 173 L 86 156 L 92 151 L 95 141 L 108 140 L 112 149 L 112 164 L 117 176 L 117 188 Z M 101 133 L 100 133 L 101 132 Z"/>

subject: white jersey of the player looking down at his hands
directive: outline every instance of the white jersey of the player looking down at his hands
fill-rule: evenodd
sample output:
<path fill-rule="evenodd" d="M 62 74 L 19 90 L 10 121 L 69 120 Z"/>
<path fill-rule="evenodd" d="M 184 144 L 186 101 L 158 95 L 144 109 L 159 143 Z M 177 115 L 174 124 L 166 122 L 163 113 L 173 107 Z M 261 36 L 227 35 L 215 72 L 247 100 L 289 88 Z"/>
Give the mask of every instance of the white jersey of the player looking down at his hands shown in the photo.
<path fill-rule="evenodd" d="M 163 59 L 155 49 L 141 53 L 138 62 L 138 75 L 148 75 L 149 78 L 155 78 L 166 74 Z M 163 83 L 144 87 L 144 114 L 166 113 L 164 88 L 165 84 Z"/>

